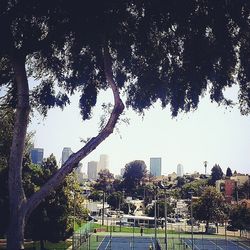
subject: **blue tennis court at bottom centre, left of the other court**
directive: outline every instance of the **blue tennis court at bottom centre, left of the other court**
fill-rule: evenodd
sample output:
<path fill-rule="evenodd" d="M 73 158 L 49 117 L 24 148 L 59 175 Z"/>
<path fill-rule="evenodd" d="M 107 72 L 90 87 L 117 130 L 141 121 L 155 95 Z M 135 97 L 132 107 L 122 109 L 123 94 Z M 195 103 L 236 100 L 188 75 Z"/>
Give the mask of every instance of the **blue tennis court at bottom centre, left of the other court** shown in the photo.
<path fill-rule="evenodd" d="M 154 238 L 152 237 L 109 237 L 106 236 L 101 244 L 99 250 L 128 250 L 128 249 L 157 249 L 154 247 Z"/>

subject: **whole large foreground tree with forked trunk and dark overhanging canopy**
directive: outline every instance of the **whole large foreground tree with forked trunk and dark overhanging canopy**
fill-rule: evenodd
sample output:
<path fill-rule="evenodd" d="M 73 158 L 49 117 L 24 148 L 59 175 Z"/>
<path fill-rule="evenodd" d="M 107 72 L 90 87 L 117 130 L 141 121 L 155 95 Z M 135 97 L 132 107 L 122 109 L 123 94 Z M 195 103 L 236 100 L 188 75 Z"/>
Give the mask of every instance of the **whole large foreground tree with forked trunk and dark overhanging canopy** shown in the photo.
<path fill-rule="evenodd" d="M 9 156 L 8 249 L 23 248 L 25 223 L 78 162 L 112 132 L 124 105 L 143 112 L 160 100 L 175 116 L 212 101 L 231 104 L 223 90 L 239 84 L 243 114 L 250 111 L 249 1 L 31 1 L 0 4 L 0 86 L 15 109 Z M 30 91 L 28 77 L 37 80 Z M 56 92 L 56 85 L 60 92 Z M 46 114 L 81 92 L 84 119 L 101 89 L 114 106 L 106 125 L 27 199 L 22 186 L 24 140 L 31 108 Z"/>

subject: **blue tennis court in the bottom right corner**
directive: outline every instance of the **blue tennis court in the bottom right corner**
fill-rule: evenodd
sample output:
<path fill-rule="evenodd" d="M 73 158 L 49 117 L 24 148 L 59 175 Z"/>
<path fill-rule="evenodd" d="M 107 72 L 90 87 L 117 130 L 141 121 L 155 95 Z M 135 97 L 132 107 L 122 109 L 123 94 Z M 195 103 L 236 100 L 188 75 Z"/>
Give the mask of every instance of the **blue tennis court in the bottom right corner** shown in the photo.
<path fill-rule="evenodd" d="M 183 239 L 186 247 L 192 249 L 192 240 Z M 238 241 L 238 240 L 224 240 L 224 239 L 194 239 L 195 250 L 249 250 L 249 242 Z"/>

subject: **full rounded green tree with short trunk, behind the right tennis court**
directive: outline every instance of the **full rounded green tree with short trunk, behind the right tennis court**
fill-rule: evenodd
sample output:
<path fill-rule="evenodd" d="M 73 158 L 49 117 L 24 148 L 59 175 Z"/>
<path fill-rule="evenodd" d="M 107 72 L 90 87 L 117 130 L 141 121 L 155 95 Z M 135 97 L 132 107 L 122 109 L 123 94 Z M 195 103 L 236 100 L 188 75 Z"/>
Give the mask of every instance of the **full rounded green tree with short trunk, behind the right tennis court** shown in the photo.
<path fill-rule="evenodd" d="M 224 222 L 228 208 L 221 193 L 212 186 L 206 187 L 201 197 L 193 202 L 193 216 L 200 221 Z"/>

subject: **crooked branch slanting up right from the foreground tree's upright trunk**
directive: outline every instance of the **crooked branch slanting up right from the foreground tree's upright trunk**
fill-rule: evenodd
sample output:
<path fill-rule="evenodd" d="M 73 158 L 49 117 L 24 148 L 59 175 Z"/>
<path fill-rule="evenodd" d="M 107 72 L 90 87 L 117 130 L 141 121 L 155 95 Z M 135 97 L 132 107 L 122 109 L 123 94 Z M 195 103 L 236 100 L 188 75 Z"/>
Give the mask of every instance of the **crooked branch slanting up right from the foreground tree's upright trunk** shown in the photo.
<path fill-rule="evenodd" d="M 34 193 L 26 203 L 26 219 L 29 217 L 32 210 L 39 205 L 39 203 L 50 192 L 56 189 L 64 180 L 64 178 L 77 167 L 78 163 L 90 154 L 101 142 L 103 142 L 110 134 L 113 133 L 114 127 L 119 119 L 119 116 L 124 110 L 124 104 L 119 95 L 119 89 L 115 84 L 112 72 L 112 60 L 108 50 L 105 47 L 103 50 L 104 70 L 108 84 L 110 85 L 114 96 L 114 107 L 109 117 L 106 126 L 100 131 L 100 133 L 93 137 L 84 147 L 78 152 L 72 154 L 69 159 L 63 164 L 63 166 L 57 171 L 57 173 L 46 183 L 41 189 Z"/>

